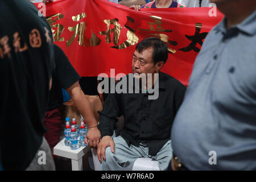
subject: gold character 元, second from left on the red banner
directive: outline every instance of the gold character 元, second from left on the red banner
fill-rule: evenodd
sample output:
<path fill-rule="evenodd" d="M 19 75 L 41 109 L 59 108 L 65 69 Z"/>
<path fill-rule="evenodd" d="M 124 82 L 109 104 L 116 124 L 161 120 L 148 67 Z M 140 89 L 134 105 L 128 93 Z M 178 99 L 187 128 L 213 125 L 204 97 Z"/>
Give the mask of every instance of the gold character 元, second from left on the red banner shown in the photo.
<path fill-rule="evenodd" d="M 77 16 L 72 16 L 72 19 L 74 22 L 78 22 L 79 20 L 81 20 L 85 17 L 86 17 L 86 14 L 81 13 Z M 101 43 L 100 38 L 98 38 L 96 36 L 96 34 L 93 33 L 92 30 L 91 30 L 91 32 L 92 32 L 91 38 L 90 39 L 85 38 L 85 32 L 86 32 L 85 22 L 80 22 L 80 23 L 76 24 L 76 26 L 68 27 L 68 30 L 71 32 L 74 32 L 74 34 L 73 34 L 72 38 L 67 41 L 67 47 L 71 45 L 71 43 L 76 38 L 76 36 L 78 37 L 77 41 L 80 46 L 93 47 L 93 46 L 98 46 Z"/>

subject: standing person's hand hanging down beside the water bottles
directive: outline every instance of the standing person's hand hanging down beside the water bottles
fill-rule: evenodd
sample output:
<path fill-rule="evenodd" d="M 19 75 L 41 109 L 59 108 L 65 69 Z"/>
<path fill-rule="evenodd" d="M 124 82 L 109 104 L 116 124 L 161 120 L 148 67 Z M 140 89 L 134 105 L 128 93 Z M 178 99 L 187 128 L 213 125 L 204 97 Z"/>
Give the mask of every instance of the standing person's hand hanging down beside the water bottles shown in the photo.
<path fill-rule="evenodd" d="M 89 143 L 88 143 L 89 140 Z M 85 143 L 87 146 L 96 148 L 101 140 L 101 132 L 97 127 L 90 128 L 85 135 Z"/>

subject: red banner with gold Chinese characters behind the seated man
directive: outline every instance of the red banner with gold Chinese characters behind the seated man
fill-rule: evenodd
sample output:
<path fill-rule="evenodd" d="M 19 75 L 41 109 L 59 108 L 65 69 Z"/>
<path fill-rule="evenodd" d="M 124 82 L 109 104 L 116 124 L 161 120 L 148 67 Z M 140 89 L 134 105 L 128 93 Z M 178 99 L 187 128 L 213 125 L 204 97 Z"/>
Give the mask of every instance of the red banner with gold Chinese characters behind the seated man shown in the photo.
<path fill-rule="evenodd" d="M 42 6 L 35 3 L 39 11 Z M 158 36 L 168 44 L 162 71 L 188 85 L 197 53 L 207 33 L 223 18 L 213 8 L 130 10 L 105 0 L 57 0 L 46 4 L 47 21 L 80 76 L 98 76 L 110 69 L 131 73 L 135 45 Z M 42 10 L 43 11 L 43 10 Z"/>

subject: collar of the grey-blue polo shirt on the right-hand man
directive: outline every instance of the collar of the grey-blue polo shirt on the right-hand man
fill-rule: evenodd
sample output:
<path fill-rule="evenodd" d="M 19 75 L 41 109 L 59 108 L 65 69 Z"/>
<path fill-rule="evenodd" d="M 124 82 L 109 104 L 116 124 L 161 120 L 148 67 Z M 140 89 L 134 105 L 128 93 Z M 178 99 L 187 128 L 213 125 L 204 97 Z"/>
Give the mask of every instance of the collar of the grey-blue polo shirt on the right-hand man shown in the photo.
<path fill-rule="evenodd" d="M 230 28 L 238 28 L 238 30 L 245 32 L 249 35 L 254 35 L 256 33 L 256 10 L 247 16 L 241 23 L 236 24 Z M 226 30 L 226 17 L 224 17 L 216 27 L 213 28 L 214 31 L 225 33 Z"/>

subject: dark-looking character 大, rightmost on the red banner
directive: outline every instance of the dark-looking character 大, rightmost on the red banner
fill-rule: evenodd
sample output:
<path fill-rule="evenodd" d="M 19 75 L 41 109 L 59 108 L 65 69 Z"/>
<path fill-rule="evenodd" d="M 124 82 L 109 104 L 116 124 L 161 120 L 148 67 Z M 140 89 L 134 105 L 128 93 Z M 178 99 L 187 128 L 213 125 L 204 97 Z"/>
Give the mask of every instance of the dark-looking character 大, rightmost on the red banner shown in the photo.
<path fill-rule="evenodd" d="M 196 47 L 196 44 L 198 43 L 200 46 L 202 46 L 203 44 L 203 39 L 205 39 L 205 37 L 207 36 L 208 32 L 203 32 L 200 33 L 201 28 L 202 28 L 202 23 L 196 23 L 196 31 L 195 34 L 190 36 L 190 35 L 185 35 L 185 37 L 191 41 L 191 43 L 184 48 L 179 49 L 180 51 L 184 51 L 184 52 L 188 52 L 188 51 L 195 51 L 195 52 L 199 52 L 200 48 Z"/>

